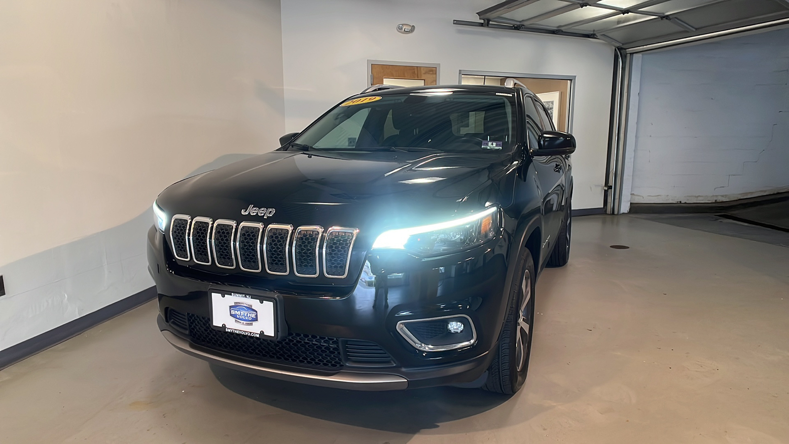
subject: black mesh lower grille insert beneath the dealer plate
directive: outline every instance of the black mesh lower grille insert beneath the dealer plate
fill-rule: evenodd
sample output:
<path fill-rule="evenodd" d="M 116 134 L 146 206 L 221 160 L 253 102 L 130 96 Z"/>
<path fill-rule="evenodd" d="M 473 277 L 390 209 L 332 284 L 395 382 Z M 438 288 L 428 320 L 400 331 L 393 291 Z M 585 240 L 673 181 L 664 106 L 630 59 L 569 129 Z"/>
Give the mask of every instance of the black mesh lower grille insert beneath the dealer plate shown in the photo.
<path fill-rule="evenodd" d="M 342 368 L 339 340 L 335 337 L 290 333 L 281 341 L 227 333 L 211 328 L 211 320 L 196 314 L 189 316 L 189 336 L 197 345 L 228 352 L 249 359 L 294 364 L 323 370 Z"/>

